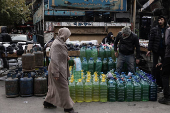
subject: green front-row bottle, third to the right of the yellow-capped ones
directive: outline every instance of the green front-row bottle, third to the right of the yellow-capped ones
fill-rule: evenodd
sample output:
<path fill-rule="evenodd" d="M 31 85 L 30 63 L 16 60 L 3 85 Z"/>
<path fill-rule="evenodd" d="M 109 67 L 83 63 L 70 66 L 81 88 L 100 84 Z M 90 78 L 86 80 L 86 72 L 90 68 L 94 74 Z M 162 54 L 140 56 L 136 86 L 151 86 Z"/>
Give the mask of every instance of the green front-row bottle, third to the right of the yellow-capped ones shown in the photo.
<path fill-rule="evenodd" d="M 125 85 L 125 100 L 127 102 L 133 101 L 133 84 L 131 79 L 127 79 L 127 83 Z"/>

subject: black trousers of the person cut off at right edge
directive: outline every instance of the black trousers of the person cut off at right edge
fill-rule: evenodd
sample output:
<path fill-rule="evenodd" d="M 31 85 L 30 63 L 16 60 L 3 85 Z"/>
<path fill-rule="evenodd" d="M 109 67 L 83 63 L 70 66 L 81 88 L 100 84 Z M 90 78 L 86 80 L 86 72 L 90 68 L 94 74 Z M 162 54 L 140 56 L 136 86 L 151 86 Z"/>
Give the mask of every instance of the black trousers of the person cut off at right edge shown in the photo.
<path fill-rule="evenodd" d="M 169 76 L 170 76 L 170 57 L 164 59 L 164 63 L 162 66 L 162 84 L 164 90 L 164 97 L 170 97 L 169 93 Z"/>

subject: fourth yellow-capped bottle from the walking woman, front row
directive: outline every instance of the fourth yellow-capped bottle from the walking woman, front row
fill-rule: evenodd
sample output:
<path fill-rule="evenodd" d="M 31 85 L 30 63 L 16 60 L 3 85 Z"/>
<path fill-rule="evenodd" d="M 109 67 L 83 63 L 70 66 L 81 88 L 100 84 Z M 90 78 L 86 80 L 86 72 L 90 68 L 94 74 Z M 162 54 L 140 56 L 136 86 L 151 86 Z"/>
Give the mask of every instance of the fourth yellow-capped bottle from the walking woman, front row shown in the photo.
<path fill-rule="evenodd" d="M 93 82 L 93 97 L 92 97 L 92 101 L 94 102 L 98 102 L 100 99 L 100 95 L 99 95 L 99 80 L 96 78 Z"/>

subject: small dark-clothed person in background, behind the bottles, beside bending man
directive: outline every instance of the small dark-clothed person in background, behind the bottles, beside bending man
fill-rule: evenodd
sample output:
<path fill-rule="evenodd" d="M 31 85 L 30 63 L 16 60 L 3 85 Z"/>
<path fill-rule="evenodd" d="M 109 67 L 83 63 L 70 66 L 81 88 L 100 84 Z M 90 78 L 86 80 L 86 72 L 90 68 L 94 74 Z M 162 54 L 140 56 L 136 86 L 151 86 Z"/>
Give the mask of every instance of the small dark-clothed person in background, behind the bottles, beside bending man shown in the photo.
<path fill-rule="evenodd" d="M 113 37 L 113 33 L 112 32 L 109 32 L 108 35 L 103 38 L 102 40 L 102 43 L 103 44 L 111 44 L 111 43 L 114 43 L 114 37 Z"/>

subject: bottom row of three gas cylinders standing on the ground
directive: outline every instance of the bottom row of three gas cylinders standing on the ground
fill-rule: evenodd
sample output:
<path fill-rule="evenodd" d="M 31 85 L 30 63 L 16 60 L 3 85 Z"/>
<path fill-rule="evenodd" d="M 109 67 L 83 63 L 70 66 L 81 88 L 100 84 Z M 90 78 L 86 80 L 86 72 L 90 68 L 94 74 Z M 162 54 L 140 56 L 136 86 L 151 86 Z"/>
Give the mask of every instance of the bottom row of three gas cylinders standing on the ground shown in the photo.
<path fill-rule="evenodd" d="M 5 80 L 6 97 L 45 96 L 48 90 L 48 71 L 17 72 L 12 70 Z"/>

